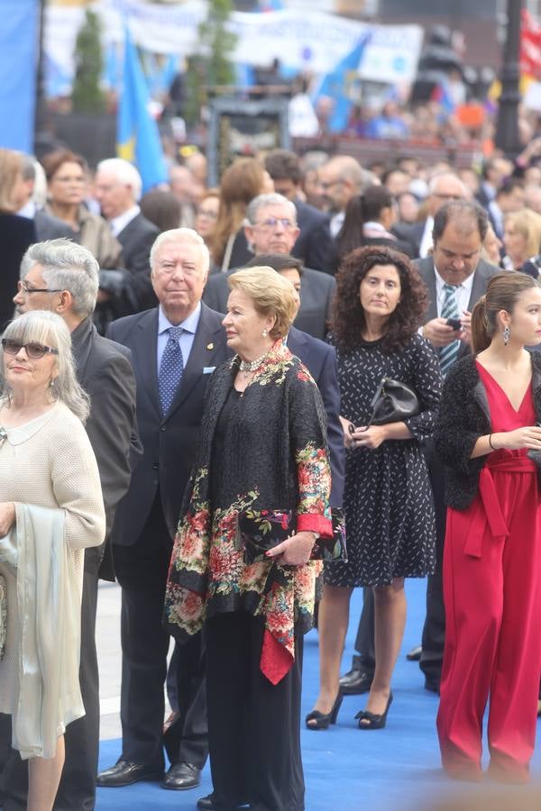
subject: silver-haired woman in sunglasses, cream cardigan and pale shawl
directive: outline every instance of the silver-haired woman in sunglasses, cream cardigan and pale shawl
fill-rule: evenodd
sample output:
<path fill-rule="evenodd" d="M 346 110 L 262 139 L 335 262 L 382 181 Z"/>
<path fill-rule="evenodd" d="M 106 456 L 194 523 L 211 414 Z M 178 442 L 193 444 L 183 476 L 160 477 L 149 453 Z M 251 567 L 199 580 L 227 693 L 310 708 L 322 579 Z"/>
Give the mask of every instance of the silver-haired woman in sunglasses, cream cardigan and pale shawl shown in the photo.
<path fill-rule="evenodd" d="M 55 314 L 15 318 L 0 345 L 0 575 L 7 594 L 0 712 L 29 760 L 28 811 L 50 811 L 79 684 L 83 554 L 104 540 L 96 459 L 83 426 L 69 330 Z"/>

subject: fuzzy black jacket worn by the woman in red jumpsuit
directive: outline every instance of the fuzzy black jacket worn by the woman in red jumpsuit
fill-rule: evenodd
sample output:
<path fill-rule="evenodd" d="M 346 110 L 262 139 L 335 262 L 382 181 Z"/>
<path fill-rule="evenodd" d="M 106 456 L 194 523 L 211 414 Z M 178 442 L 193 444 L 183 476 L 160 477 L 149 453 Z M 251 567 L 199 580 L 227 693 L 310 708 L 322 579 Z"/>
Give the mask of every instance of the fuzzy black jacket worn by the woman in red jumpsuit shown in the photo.
<path fill-rule="evenodd" d="M 532 372 L 536 416 L 541 421 L 541 355 L 532 355 Z M 487 395 L 470 355 L 458 360 L 445 379 L 434 434 L 436 453 L 445 465 L 447 506 L 465 510 L 472 504 L 487 457 L 470 457 L 479 437 L 490 433 Z"/>

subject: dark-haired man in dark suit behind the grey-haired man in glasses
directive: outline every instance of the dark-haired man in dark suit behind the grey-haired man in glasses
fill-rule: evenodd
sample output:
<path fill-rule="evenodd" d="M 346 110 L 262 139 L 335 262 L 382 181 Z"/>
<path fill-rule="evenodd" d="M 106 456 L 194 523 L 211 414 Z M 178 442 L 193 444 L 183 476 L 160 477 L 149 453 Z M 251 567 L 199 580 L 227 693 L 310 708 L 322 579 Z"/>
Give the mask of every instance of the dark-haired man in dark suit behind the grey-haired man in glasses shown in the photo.
<path fill-rule="evenodd" d="M 302 169 L 295 152 L 271 150 L 265 158 L 265 169 L 274 182 L 274 191 L 290 200 L 297 209 L 300 229 L 291 255 L 298 257 L 307 268 L 335 274 L 335 243 L 329 229 L 329 214 L 308 205 L 298 196 Z"/>

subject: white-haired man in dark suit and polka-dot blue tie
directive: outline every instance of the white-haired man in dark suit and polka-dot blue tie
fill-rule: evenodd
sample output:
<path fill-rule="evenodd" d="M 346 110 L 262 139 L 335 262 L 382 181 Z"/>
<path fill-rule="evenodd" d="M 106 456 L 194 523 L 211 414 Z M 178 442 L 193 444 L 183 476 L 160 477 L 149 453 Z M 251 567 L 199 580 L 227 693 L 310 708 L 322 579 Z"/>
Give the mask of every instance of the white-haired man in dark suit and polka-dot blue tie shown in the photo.
<path fill-rule="evenodd" d="M 162 734 L 170 637 L 161 617 L 206 384 L 215 366 L 230 354 L 223 316 L 200 301 L 208 267 L 206 245 L 195 231 L 163 232 L 151 250 L 151 281 L 160 305 L 109 327 L 108 335 L 133 353 L 144 454 L 112 533 L 122 587 L 123 749 L 115 765 L 98 775 L 99 786 L 161 779 L 164 743 L 171 761 L 164 788 L 197 786 L 206 761 L 200 636 L 179 649 L 179 718 L 165 740 Z M 168 743 L 170 735 L 174 743 Z"/>

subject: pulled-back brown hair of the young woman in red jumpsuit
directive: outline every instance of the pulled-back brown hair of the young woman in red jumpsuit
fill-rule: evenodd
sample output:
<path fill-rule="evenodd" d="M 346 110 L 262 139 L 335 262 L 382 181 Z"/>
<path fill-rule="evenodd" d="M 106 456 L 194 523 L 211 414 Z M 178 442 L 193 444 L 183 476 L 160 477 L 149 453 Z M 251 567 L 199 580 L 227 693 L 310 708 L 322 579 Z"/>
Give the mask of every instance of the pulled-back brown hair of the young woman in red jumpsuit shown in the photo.
<path fill-rule="evenodd" d="M 512 313 L 518 296 L 531 287 L 541 287 L 536 278 L 515 270 L 502 270 L 493 276 L 487 292 L 472 310 L 472 347 L 481 352 L 491 345 L 498 329 L 496 315 L 500 310 Z"/>

